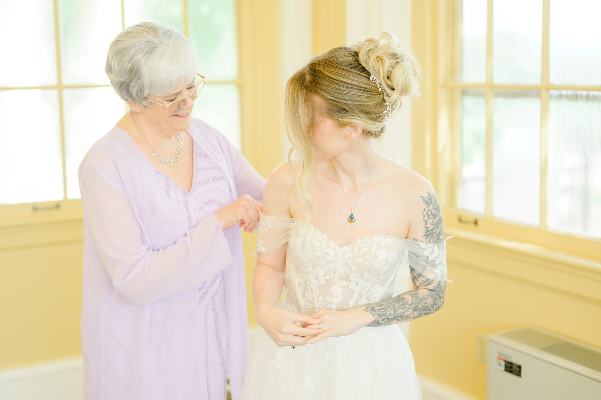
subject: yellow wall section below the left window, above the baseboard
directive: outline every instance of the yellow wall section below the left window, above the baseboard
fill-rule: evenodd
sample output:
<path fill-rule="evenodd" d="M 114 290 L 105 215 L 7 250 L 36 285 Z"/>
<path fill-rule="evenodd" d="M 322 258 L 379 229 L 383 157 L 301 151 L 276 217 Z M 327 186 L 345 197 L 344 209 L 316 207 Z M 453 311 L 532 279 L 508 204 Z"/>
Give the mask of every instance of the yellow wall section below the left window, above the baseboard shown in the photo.
<path fill-rule="evenodd" d="M 15 230 L 0 230 L 0 238 Z M 70 230 L 81 236 L 83 224 Z M 0 369 L 81 354 L 82 253 L 81 238 L 64 236 L 50 245 L 0 246 Z"/>

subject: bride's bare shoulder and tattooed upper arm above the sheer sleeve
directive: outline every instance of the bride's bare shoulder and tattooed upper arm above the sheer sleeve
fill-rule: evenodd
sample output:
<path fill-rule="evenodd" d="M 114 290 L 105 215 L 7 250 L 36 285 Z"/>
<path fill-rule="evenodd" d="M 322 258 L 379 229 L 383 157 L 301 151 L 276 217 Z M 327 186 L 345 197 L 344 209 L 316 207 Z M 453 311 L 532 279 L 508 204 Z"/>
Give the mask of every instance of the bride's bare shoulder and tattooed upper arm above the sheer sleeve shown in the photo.
<path fill-rule="evenodd" d="M 438 243 L 444 240 L 441 204 L 432 183 L 425 177 L 392 160 L 386 160 L 395 195 L 407 212 L 407 239 Z"/>

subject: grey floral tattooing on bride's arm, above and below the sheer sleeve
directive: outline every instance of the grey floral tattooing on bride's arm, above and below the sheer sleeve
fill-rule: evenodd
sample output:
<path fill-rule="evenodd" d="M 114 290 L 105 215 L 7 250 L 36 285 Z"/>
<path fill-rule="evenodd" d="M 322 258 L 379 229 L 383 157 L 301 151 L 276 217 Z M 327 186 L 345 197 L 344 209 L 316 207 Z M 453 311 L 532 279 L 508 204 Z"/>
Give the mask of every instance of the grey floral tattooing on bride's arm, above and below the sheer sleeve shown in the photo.
<path fill-rule="evenodd" d="M 438 243 L 444 241 L 444 224 L 442 221 L 441 205 L 432 188 L 419 195 L 421 205 L 419 211 L 410 218 L 409 236 L 415 241 L 426 243 Z M 416 207 L 419 202 L 416 201 Z M 417 208 L 416 208 L 417 210 Z M 416 262 L 429 262 L 428 256 Z M 445 301 L 446 282 L 428 278 L 423 272 L 418 272 L 414 266 L 410 266 L 413 289 L 398 296 L 380 301 L 380 303 L 368 304 L 365 312 L 373 317 L 368 324 L 370 327 L 397 324 L 407 322 L 424 315 L 432 314 L 442 307 Z"/>

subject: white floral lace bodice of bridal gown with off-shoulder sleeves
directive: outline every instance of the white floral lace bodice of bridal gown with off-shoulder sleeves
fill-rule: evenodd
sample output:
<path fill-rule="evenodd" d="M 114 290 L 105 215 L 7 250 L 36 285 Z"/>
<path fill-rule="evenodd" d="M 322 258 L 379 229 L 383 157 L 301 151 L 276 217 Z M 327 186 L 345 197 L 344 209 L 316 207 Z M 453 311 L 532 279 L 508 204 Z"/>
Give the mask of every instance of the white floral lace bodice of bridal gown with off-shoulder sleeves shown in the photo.
<path fill-rule="evenodd" d="M 430 282 L 447 276 L 444 243 L 377 234 L 341 246 L 309 221 L 261 214 L 257 251 L 272 251 L 284 243 L 285 304 L 304 315 L 385 300 L 392 296 L 401 267 L 404 275 L 413 268 Z"/>

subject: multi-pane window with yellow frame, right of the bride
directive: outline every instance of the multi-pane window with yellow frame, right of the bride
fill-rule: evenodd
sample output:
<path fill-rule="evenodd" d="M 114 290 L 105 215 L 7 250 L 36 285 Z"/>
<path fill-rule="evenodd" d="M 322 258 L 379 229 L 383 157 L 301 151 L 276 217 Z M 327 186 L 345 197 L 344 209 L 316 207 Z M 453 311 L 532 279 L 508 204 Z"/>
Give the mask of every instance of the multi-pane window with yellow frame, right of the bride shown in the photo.
<path fill-rule="evenodd" d="M 599 246 L 601 2 L 445 8 L 439 115 L 451 143 L 453 168 L 442 173 L 450 214 L 537 244 Z"/>

